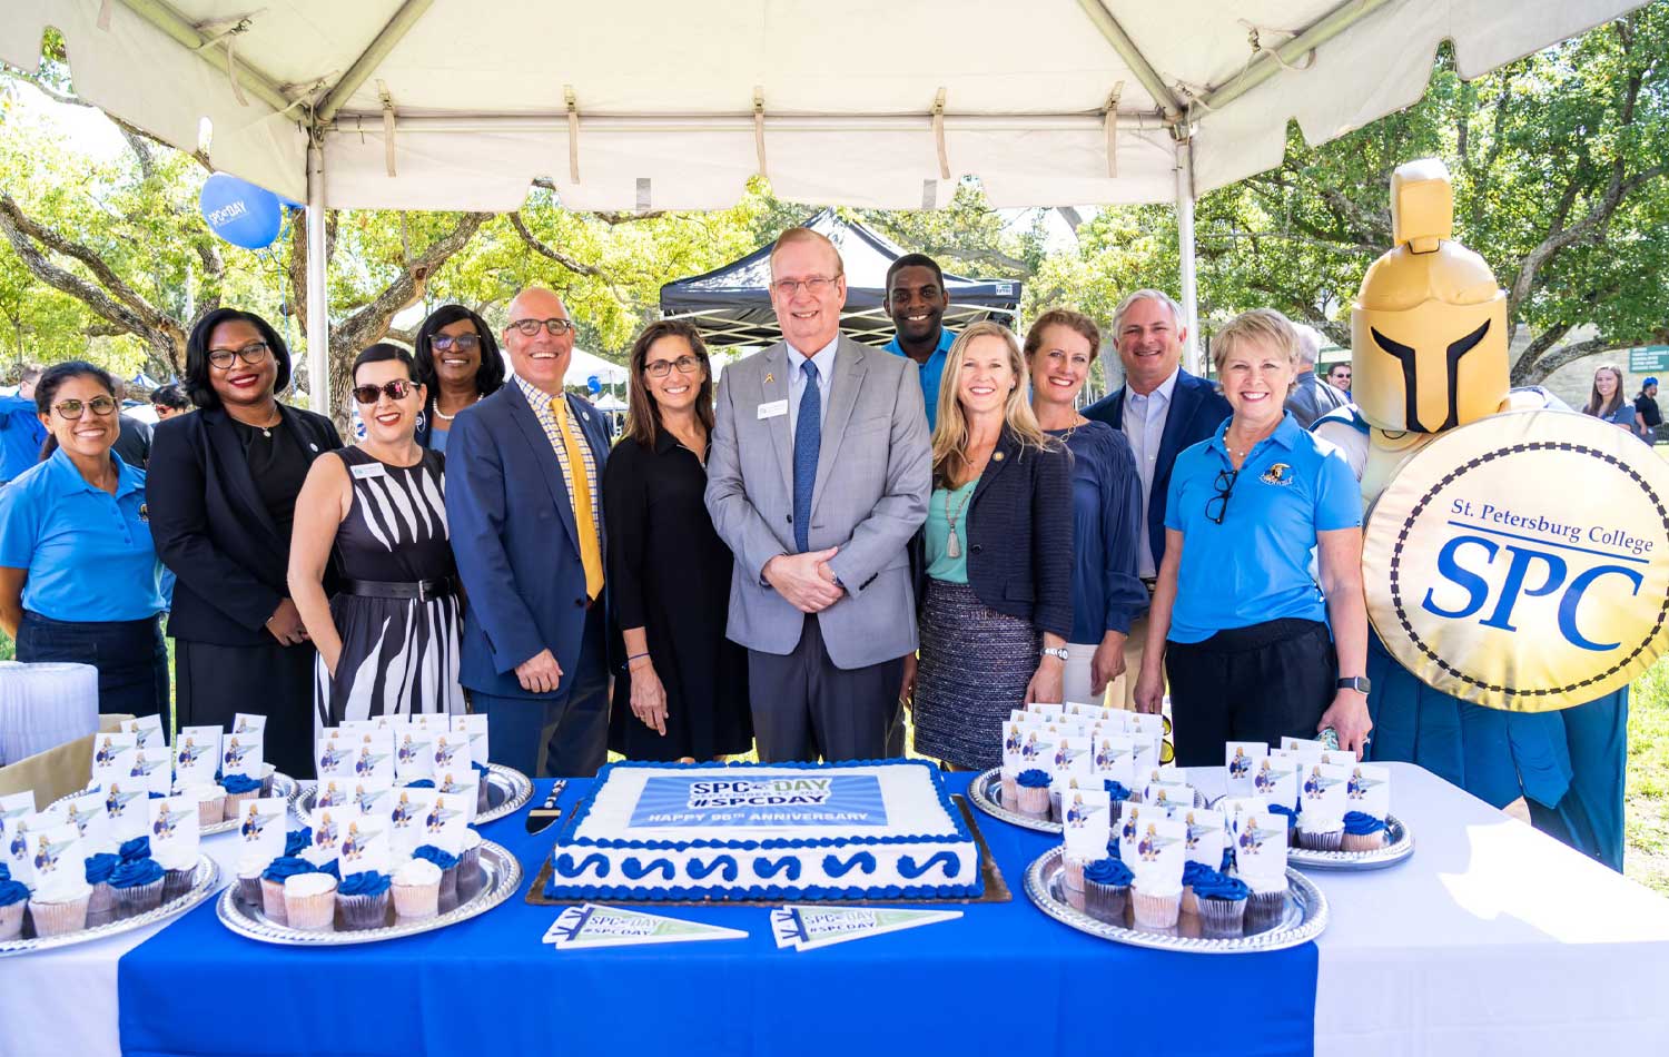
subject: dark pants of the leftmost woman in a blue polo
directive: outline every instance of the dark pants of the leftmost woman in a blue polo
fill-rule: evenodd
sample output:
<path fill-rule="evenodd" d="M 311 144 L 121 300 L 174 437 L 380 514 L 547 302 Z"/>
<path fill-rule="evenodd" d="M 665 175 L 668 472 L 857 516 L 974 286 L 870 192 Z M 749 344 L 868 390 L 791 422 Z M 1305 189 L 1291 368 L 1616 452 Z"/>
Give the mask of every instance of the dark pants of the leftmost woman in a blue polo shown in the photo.
<path fill-rule="evenodd" d="M 92 665 L 102 713 L 149 716 L 169 708 L 169 648 L 155 616 L 82 621 L 23 609 L 17 660 Z"/>

